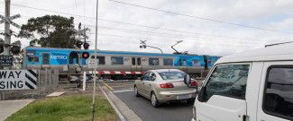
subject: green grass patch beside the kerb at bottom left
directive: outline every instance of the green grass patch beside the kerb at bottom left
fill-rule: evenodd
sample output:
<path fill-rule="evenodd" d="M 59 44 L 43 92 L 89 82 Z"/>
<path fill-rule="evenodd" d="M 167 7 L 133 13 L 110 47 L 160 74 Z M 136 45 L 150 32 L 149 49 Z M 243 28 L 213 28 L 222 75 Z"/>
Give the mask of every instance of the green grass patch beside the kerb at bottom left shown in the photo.
<path fill-rule="evenodd" d="M 89 121 L 92 99 L 88 96 L 67 96 L 37 100 L 5 121 Z M 96 97 L 95 121 L 118 120 L 114 109 L 103 97 Z"/>

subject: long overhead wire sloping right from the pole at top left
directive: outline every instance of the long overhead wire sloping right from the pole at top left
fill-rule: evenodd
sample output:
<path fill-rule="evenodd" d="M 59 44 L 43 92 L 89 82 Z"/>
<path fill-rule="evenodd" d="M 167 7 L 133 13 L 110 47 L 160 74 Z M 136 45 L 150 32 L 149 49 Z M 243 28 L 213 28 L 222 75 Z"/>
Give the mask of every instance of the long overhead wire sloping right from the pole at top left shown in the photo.
<path fill-rule="evenodd" d="M 3 3 L 3 2 L 0 2 L 0 3 Z M 50 12 L 50 13 L 67 14 L 67 15 L 71 15 L 71 16 L 77 16 L 77 17 L 80 17 L 80 18 L 96 19 L 94 17 L 88 17 L 88 16 L 78 15 L 78 14 L 73 14 L 73 13 L 63 13 L 63 12 L 52 11 L 52 10 L 43 9 L 43 8 L 36 8 L 36 7 L 31 7 L 31 6 L 25 6 L 25 5 L 22 5 L 22 4 L 12 4 L 12 5 L 20 6 L 20 7 L 24 7 L 24 8 L 30 8 L 30 9 L 39 10 L 39 11 Z M 114 23 L 120 23 L 120 24 L 125 24 L 125 25 L 132 25 L 132 26 L 144 27 L 144 28 L 151 28 L 151 29 L 155 29 L 155 30 L 168 30 L 168 31 L 172 31 L 172 32 L 189 33 L 189 34 L 202 35 L 202 36 L 211 36 L 211 37 L 216 37 L 216 38 L 241 39 L 241 38 L 235 38 L 235 37 L 226 37 L 226 36 L 218 36 L 218 35 L 211 35 L 211 34 L 199 33 L 199 32 L 188 31 L 188 30 L 163 29 L 163 28 L 159 28 L 159 27 L 146 26 L 146 25 L 142 25 L 142 24 L 135 24 L 135 23 L 129 23 L 129 22 L 117 22 L 117 21 L 112 21 L 112 20 L 105 20 L 105 19 L 101 19 L 101 18 L 98 18 L 98 20 L 105 21 L 105 22 L 114 22 Z M 253 39 L 253 40 L 255 40 L 255 39 Z"/>

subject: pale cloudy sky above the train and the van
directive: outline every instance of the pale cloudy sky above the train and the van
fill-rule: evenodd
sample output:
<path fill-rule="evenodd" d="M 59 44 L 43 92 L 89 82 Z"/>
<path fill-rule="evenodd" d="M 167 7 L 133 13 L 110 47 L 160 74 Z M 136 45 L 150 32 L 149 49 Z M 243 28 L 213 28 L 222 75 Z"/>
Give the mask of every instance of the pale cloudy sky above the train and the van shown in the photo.
<path fill-rule="evenodd" d="M 0 1 L 2 15 L 4 2 Z M 183 40 L 175 47 L 180 52 L 226 56 L 291 41 L 292 7 L 292 0 L 99 0 L 97 48 L 160 53 L 139 48 L 140 40 L 146 40 L 149 46 L 173 53 L 170 47 Z M 16 13 L 22 15 L 14 20 L 20 25 L 46 14 L 73 16 L 76 29 L 79 22 L 90 29 L 88 41 L 95 48 L 96 0 L 12 0 L 11 14 Z M 0 32 L 4 29 L 0 24 Z M 23 48 L 29 45 L 28 39 L 15 40 L 21 40 Z"/>

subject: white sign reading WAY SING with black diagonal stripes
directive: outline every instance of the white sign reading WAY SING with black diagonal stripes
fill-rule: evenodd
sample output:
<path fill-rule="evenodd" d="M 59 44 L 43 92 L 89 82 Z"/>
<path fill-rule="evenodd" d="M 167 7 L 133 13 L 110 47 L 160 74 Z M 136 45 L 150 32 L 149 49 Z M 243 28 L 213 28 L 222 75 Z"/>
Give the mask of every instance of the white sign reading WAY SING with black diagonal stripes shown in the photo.
<path fill-rule="evenodd" d="M 0 70 L 0 91 L 37 89 L 36 70 Z"/>

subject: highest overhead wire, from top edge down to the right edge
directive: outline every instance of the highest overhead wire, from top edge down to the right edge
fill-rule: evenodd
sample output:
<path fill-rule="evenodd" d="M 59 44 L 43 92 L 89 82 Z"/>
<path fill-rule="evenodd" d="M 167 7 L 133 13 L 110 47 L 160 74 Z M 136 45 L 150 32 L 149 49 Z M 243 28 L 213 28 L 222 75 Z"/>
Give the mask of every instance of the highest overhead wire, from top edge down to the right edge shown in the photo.
<path fill-rule="evenodd" d="M 251 28 L 251 29 L 256 29 L 256 30 L 266 30 L 266 31 L 272 31 L 272 32 L 293 34 L 292 32 L 288 32 L 288 31 L 270 30 L 270 29 L 265 29 L 265 28 L 261 28 L 261 27 L 254 27 L 254 26 L 245 25 L 245 24 L 218 21 L 218 20 L 214 20 L 214 19 L 210 19 L 210 18 L 204 18 L 204 17 L 200 17 L 200 16 L 195 16 L 195 15 L 189 15 L 189 14 L 184 14 L 184 13 L 175 13 L 175 12 L 170 12 L 170 11 L 161 10 L 161 9 L 157 9 L 157 8 L 151 8 L 151 7 L 142 6 L 142 5 L 139 5 L 139 4 L 130 4 L 130 3 L 125 3 L 125 2 L 121 2 L 121 1 L 115 1 L 115 0 L 108 0 L 108 1 L 118 3 L 118 4 L 132 5 L 132 6 L 141 7 L 141 8 L 145 8 L 145 9 L 150 9 L 150 10 L 153 10 L 153 11 L 159 11 L 159 12 L 163 12 L 163 13 L 177 14 L 177 15 L 186 16 L 186 17 L 189 17 L 189 18 L 194 18 L 194 19 L 197 19 L 197 20 L 204 20 L 204 21 L 209 21 L 209 22 L 219 22 L 219 23 L 229 24 L 229 25 L 233 25 L 233 26 L 239 26 L 239 27 L 243 27 L 243 28 Z"/>

